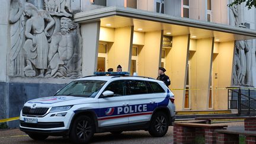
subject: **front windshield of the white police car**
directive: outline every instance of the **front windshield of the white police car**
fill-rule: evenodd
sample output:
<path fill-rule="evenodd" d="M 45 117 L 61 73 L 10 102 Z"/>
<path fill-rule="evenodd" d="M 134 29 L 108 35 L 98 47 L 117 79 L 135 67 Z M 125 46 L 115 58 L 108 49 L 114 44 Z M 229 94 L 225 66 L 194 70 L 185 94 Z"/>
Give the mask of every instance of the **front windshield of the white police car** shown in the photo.
<path fill-rule="evenodd" d="M 107 81 L 82 80 L 73 81 L 62 88 L 55 95 L 72 95 L 74 97 L 92 97 L 94 98 L 101 87 Z"/>

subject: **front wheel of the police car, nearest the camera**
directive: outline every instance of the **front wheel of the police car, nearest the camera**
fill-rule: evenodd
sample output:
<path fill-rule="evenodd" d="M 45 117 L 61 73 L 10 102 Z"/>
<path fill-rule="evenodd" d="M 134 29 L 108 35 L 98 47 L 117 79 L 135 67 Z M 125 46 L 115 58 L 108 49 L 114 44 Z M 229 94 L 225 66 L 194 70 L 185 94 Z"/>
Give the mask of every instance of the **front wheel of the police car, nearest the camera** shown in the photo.
<path fill-rule="evenodd" d="M 73 121 L 69 137 L 74 143 L 88 143 L 94 132 L 92 120 L 87 116 L 79 116 Z"/>

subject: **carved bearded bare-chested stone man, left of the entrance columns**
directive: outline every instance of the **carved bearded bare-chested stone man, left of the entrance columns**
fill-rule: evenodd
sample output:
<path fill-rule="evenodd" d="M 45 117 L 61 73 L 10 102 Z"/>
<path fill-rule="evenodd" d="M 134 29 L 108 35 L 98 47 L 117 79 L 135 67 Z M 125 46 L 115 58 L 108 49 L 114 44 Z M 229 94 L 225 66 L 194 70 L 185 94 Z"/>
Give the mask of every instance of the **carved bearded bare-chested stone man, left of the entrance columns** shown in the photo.
<path fill-rule="evenodd" d="M 62 17 L 60 20 L 60 33 L 53 34 L 52 41 L 49 49 L 49 71 L 48 75 L 55 77 L 77 77 L 78 73 L 73 68 L 74 58 L 77 53 L 75 52 L 78 47 L 75 43 L 78 38 L 77 31 L 72 33 L 77 27 L 76 23 L 73 23 L 71 19 Z"/>

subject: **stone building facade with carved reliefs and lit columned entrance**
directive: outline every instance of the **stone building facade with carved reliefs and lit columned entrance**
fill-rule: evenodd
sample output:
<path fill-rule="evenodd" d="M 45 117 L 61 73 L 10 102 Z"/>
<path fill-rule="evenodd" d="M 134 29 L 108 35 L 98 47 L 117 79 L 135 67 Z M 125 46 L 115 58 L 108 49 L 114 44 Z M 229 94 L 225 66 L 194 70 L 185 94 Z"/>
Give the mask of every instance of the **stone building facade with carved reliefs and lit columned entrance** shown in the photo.
<path fill-rule="evenodd" d="M 167 69 L 177 110 L 227 110 L 226 87 L 256 86 L 256 11 L 230 2 L 2 2 L 0 119 L 117 65 L 152 78 Z"/>

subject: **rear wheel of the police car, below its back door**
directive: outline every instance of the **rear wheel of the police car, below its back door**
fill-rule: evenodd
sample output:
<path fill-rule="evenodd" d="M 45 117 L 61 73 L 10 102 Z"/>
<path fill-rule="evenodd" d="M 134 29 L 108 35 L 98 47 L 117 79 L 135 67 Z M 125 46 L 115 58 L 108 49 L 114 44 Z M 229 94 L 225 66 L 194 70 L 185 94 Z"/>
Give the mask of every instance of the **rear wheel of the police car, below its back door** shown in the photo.
<path fill-rule="evenodd" d="M 164 136 L 168 130 L 168 118 L 165 113 L 158 112 L 152 116 L 149 134 L 155 137 Z"/>

